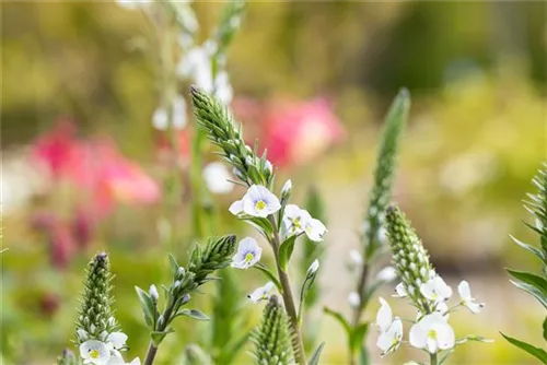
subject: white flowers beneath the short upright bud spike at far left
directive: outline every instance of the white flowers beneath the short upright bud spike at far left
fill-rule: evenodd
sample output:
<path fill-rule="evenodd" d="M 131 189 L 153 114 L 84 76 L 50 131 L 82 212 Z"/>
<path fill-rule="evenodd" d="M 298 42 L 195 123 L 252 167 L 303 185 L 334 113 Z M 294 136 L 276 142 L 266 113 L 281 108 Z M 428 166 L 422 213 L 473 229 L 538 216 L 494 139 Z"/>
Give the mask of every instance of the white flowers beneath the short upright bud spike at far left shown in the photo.
<path fill-rule="evenodd" d="M 93 326 L 93 325 L 91 325 Z M 126 350 L 127 334 L 123 332 L 106 333 L 104 331 L 98 339 L 93 339 L 84 329 L 77 331 L 80 344 L 80 356 L 84 364 L 96 365 L 140 365 L 139 357 L 126 363 L 121 351 Z"/>

